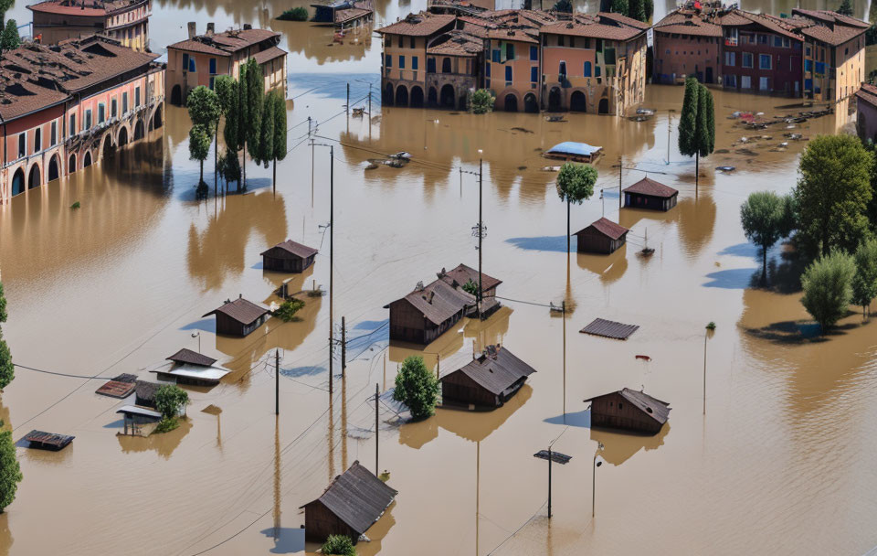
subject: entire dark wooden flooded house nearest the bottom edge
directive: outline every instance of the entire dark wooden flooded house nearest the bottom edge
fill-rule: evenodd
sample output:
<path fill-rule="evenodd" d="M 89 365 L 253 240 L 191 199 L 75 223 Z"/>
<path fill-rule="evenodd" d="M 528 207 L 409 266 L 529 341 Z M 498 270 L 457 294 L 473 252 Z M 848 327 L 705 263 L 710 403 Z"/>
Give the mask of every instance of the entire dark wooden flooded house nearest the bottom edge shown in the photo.
<path fill-rule="evenodd" d="M 329 535 L 346 535 L 355 543 L 384 515 L 396 494 L 396 490 L 355 461 L 335 477 L 319 498 L 301 507 L 304 537 L 322 542 Z"/>

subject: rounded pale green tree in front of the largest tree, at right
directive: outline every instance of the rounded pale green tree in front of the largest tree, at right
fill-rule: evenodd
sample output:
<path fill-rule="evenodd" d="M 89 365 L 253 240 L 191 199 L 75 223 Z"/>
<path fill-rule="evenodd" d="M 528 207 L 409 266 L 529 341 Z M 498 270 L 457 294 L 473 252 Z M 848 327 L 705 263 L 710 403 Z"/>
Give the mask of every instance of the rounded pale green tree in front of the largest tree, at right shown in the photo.
<path fill-rule="evenodd" d="M 831 251 L 811 262 L 801 276 L 804 286 L 801 304 L 819 323 L 823 334 L 850 310 L 855 273 L 856 264 L 851 255 Z"/>

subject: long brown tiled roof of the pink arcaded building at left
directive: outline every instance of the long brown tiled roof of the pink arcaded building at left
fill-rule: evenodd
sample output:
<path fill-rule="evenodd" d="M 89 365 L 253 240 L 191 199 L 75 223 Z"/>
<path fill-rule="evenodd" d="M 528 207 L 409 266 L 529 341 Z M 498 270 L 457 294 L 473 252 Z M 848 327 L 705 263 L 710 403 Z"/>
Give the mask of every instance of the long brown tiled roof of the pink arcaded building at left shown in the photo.
<path fill-rule="evenodd" d="M 27 45 L 0 59 L 0 117 L 11 120 L 64 102 L 74 92 L 129 71 L 145 73 L 158 55 L 91 36 L 58 45 Z"/>

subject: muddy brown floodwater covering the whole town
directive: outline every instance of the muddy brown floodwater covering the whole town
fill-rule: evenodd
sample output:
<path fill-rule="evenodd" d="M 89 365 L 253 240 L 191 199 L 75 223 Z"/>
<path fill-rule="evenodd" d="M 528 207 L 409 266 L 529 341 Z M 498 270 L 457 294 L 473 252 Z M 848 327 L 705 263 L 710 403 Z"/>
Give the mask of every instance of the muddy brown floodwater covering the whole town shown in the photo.
<path fill-rule="evenodd" d="M 169 107 L 163 132 L 0 208 L 5 337 L 18 364 L 60 373 L 16 369 L 0 419 L 16 440 L 32 429 L 76 436 L 58 454 L 18 449 L 25 479 L 0 515 L 0 555 L 314 551 L 299 508 L 354 460 L 374 468 L 375 384 L 392 387 L 408 355 L 446 373 L 497 342 L 538 370 L 501 409 L 402 424 L 381 402 L 379 466 L 399 495 L 367 532 L 371 542 L 357 546 L 361 554 L 861 554 L 877 545 L 877 325 L 852 314 L 837 333 L 813 337 L 800 294 L 787 285 L 795 280 L 785 248 L 770 253 L 782 287 L 754 289 L 760 259 L 739 225 L 749 193 L 794 185 L 806 142 L 779 147 L 782 135 L 833 133 L 845 114 L 747 132 L 726 116 L 798 109 L 715 91 L 716 149 L 727 152 L 702 161 L 695 190 L 693 161 L 676 149 L 681 88 L 650 86 L 646 105 L 657 112 L 640 123 L 380 110 L 376 95 L 369 123 L 343 113 L 345 86 L 354 106 L 365 105 L 369 84 L 379 90 L 380 41 L 330 47 L 328 29 L 269 21 L 265 10 L 280 7 L 289 5 L 159 2 L 151 27 L 153 45 L 181 37 L 192 19 L 199 28 L 212 20 L 283 32 L 293 53 L 292 150 L 278 166 L 276 194 L 270 169 L 250 162 L 247 195 L 195 201 L 187 118 Z M 420 7 L 378 3 L 379 19 Z M 10 16 L 23 19 L 23 9 Z M 343 380 L 335 354 L 332 398 L 328 295 L 304 297 L 300 320 L 270 320 L 245 339 L 216 337 L 213 319 L 201 316 L 238 294 L 276 300 L 286 276 L 263 271 L 259 252 L 287 238 L 321 250 L 291 288 L 328 288 L 331 162 L 329 148 L 306 143 L 309 116 L 322 122 L 317 142 L 334 145 L 332 305 L 335 328 L 345 316 L 350 339 Z M 744 136 L 751 141 L 741 144 Z M 553 163 L 540 156 L 564 140 L 606 150 L 595 196 L 573 208 L 574 230 L 601 214 L 619 218 L 619 157 L 624 186 L 648 174 L 680 190 L 678 207 L 625 209 L 624 249 L 567 260 L 565 205 L 555 175 L 542 170 Z M 415 160 L 367 169 L 369 159 L 400 150 Z M 388 345 L 386 303 L 442 267 L 477 264 L 472 173 L 481 157 L 484 270 L 515 301 L 427 348 Z M 725 165 L 737 169 L 714 169 Z M 81 209 L 69 209 L 74 201 Z M 647 241 L 656 251 L 642 258 Z M 564 299 L 566 319 L 544 306 Z M 595 317 L 640 328 L 626 342 L 577 332 Z M 706 343 L 704 416 L 710 321 L 717 330 Z M 212 390 L 190 389 L 188 420 L 174 432 L 117 436 L 122 403 L 94 394 L 102 380 L 86 378 L 149 379 L 165 357 L 199 343 L 232 374 Z M 582 400 L 621 387 L 671 402 L 658 435 L 589 428 Z M 553 470 L 549 524 L 547 469 L 533 454 L 555 439 L 573 459 Z M 597 443 L 607 464 L 597 469 L 592 519 L 588 461 Z"/>

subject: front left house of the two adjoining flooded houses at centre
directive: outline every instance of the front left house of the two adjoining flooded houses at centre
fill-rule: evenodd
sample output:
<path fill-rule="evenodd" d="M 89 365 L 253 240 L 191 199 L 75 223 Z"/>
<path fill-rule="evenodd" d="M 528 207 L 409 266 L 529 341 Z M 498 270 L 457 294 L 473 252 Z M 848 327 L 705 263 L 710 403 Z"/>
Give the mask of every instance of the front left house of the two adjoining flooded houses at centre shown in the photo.
<path fill-rule="evenodd" d="M 436 280 L 417 288 L 385 309 L 390 310 L 390 339 L 428 344 L 454 326 L 475 305 L 475 296 Z"/>

